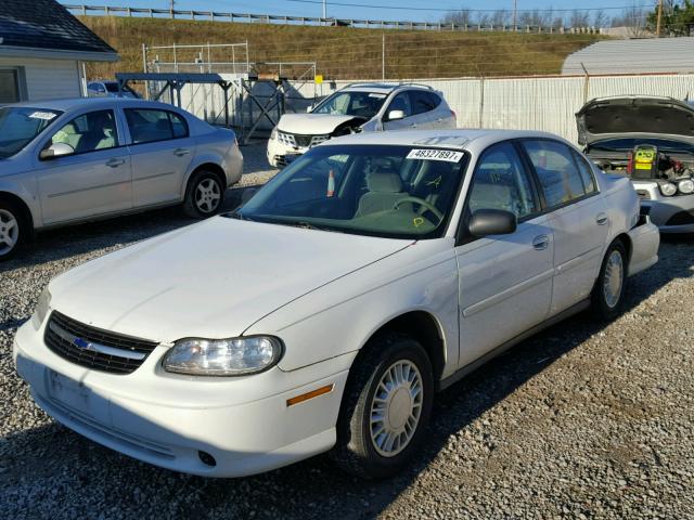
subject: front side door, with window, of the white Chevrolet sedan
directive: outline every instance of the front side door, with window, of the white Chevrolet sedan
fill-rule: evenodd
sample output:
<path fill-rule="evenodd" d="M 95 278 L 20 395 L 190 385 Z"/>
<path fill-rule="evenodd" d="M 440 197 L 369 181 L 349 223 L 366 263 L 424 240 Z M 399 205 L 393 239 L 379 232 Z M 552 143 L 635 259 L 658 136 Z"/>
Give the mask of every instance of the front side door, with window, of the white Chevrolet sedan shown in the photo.
<path fill-rule="evenodd" d="M 477 161 L 464 220 L 478 209 L 511 211 L 518 226 L 481 238 L 461 232 L 460 367 L 544 321 L 552 298 L 553 232 L 513 143 L 492 145 Z"/>

